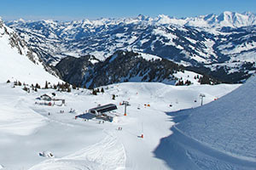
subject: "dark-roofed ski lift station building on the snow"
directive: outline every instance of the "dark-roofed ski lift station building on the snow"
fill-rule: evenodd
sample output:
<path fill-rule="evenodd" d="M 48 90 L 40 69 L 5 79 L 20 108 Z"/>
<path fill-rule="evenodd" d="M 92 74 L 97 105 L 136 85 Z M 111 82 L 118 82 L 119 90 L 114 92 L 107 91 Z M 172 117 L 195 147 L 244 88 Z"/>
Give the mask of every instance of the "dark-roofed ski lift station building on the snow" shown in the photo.
<path fill-rule="evenodd" d="M 95 108 L 91 108 L 88 112 L 95 116 L 103 116 L 108 119 L 108 121 L 113 121 L 113 116 L 109 116 L 107 113 L 110 111 L 117 110 L 117 106 L 114 104 L 101 105 Z"/>

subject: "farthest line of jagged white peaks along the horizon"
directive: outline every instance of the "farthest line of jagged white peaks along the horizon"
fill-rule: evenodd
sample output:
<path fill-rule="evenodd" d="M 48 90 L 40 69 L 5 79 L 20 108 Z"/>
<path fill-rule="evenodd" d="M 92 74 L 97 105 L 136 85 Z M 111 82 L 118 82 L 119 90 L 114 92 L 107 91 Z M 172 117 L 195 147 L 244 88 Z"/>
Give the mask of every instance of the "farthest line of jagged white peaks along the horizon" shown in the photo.
<path fill-rule="evenodd" d="M 124 22 L 125 24 L 131 24 L 135 22 L 144 22 L 148 24 L 154 25 L 161 25 L 161 24 L 177 24 L 180 26 L 195 26 L 195 22 L 201 21 L 206 22 L 206 25 L 199 25 L 207 26 L 208 27 L 223 27 L 223 26 L 231 26 L 231 27 L 241 27 L 241 26 L 253 26 L 256 25 L 256 15 L 250 11 L 243 12 L 243 13 L 236 13 L 231 11 L 224 11 L 221 14 L 205 14 L 205 15 L 197 15 L 195 17 L 182 17 L 177 18 L 175 16 L 169 16 L 166 14 L 159 14 L 156 17 L 150 17 L 143 14 L 138 14 L 137 17 L 127 17 L 127 18 L 100 18 L 96 20 L 70 20 L 70 21 L 59 21 L 59 20 L 13 20 L 7 21 L 13 23 L 26 23 L 26 22 L 35 22 L 35 21 L 44 21 L 48 24 L 58 23 L 83 23 L 83 25 L 95 25 L 95 26 L 103 26 L 103 25 L 116 25 L 120 22 Z M 147 22 L 146 22 L 147 21 Z M 228 22 L 225 24 L 221 24 L 221 22 Z"/>

